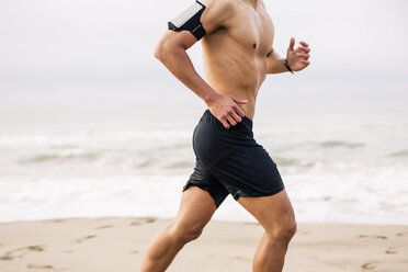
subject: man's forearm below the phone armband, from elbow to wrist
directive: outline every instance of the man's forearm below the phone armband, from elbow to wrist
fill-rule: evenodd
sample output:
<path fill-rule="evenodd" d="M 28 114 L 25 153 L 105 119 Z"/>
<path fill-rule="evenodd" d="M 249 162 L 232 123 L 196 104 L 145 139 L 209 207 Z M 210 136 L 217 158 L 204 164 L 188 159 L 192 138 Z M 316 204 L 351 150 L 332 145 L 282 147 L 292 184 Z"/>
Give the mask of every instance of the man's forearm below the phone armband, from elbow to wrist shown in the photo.
<path fill-rule="evenodd" d="M 195 71 L 193 63 L 182 46 L 162 49 L 157 58 L 184 86 L 197 94 L 206 104 L 211 103 L 217 93 Z"/>

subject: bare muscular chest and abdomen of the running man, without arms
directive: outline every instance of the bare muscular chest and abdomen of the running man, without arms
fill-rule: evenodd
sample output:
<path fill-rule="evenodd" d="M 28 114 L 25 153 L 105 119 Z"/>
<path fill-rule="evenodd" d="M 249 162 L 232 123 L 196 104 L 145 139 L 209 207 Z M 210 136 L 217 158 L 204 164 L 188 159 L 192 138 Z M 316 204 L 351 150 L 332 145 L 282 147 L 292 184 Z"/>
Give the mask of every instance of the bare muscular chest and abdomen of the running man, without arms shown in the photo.
<path fill-rule="evenodd" d="M 203 38 L 206 81 L 220 94 L 247 99 L 248 103 L 239 106 L 252 120 L 258 90 L 267 76 L 267 55 L 272 48 L 272 20 L 261 0 L 217 1 L 231 1 L 234 15 L 225 26 Z"/>

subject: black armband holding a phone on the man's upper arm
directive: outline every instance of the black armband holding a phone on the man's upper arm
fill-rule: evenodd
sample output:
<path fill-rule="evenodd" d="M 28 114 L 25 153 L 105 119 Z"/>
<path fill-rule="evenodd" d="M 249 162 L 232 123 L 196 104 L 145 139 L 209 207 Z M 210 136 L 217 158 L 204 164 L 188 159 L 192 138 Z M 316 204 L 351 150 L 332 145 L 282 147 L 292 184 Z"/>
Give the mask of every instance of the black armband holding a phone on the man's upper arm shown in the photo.
<path fill-rule="evenodd" d="M 174 20 L 168 22 L 168 27 L 171 31 L 190 31 L 191 34 L 199 41 L 205 36 L 206 32 L 201 24 L 201 15 L 205 10 L 205 5 L 195 1 L 193 5 L 186 9 Z"/>

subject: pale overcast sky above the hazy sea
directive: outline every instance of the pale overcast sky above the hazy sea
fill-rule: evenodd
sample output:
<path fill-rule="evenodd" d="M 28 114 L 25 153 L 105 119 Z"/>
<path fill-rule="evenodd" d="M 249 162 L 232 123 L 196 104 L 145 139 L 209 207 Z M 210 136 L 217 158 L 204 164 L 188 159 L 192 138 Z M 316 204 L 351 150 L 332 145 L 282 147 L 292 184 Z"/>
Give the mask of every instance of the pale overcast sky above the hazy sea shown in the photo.
<path fill-rule="evenodd" d="M 61 106 L 78 103 L 79 94 L 87 100 L 99 94 L 101 99 L 94 98 L 94 103 L 104 100 L 106 104 L 112 98 L 127 100 L 128 93 L 149 95 L 141 90 L 181 88 L 152 57 L 152 52 L 167 29 L 167 21 L 191 2 L 0 1 L 0 106 L 3 113 L 10 113 L 10 109 L 35 107 L 49 98 Z M 311 65 L 307 71 L 296 78 L 284 75 L 276 80 L 268 79 L 265 89 L 294 82 L 293 88 L 306 86 L 310 90 L 307 95 L 320 97 L 319 102 L 325 103 L 329 95 L 325 98 L 321 93 L 330 89 L 330 83 L 335 98 L 352 95 L 355 92 L 352 87 L 359 86 L 364 90 L 355 93 L 356 104 L 366 101 L 372 88 L 375 101 L 404 107 L 403 101 L 408 100 L 407 1 L 264 2 L 276 30 L 274 47 L 282 56 L 291 36 L 307 41 L 311 47 Z M 202 72 L 200 45 L 189 53 Z M 280 93 L 282 88 L 277 89 L 274 98 L 288 103 L 293 95 L 285 97 Z M 342 89 L 349 94 L 340 94 Z M 188 99 L 196 98 L 189 95 Z M 126 105 L 132 107 L 131 103 Z"/>

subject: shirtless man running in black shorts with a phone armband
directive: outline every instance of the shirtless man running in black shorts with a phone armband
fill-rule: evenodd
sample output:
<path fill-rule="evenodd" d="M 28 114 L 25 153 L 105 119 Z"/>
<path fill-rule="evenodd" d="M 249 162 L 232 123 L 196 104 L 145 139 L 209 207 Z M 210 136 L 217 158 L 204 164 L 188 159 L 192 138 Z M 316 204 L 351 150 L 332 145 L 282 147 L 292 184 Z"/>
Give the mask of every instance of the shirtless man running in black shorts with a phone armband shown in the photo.
<path fill-rule="evenodd" d="M 273 50 L 274 29 L 262 0 L 201 0 L 194 5 L 169 24 L 155 56 L 207 105 L 193 134 L 196 166 L 177 217 L 151 241 L 140 271 L 166 271 L 228 194 L 264 229 L 252 271 L 282 271 L 295 215 L 276 165 L 253 139 L 252 120 L 265 76 L 303 70 L 310 49 L 305 42 L 294 48 L 291 38 L 286 58 Z M 201 37 L 205 81 L 185 53 Z"/>

